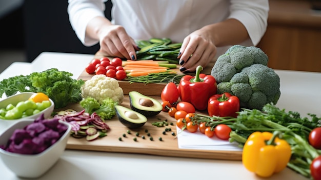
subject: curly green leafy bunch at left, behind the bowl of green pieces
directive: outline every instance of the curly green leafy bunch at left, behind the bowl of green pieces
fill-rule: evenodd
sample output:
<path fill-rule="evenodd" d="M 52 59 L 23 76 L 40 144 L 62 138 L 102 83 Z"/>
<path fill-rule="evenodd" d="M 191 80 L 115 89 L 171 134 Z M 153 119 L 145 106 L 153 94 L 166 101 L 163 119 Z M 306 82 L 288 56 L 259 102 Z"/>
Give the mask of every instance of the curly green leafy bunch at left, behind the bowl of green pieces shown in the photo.
<path fill-rule="evenodd" d="M 17 92 L 43 92 L 52 99 L 55 109 L 77 103 L 82 100 L 82 79 L 71 78 L 73 74 L 51 68 L 29 75 L 18 75 L 3 79 L 0 82 L 0 95 L 11 96 Z"/>

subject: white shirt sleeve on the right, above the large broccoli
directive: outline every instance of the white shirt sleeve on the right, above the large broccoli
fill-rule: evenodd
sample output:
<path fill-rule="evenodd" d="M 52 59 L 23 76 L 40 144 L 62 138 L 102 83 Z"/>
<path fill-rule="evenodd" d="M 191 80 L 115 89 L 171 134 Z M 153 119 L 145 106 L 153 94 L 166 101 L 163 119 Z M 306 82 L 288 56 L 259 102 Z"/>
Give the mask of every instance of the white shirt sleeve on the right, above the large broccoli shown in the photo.
<path fill-rule="evenodd" d="M 241 22 L 256 46 L 263 37 L 268 26 L 269 2 L 267 0 L 232 0 L 229 18 Z"/>

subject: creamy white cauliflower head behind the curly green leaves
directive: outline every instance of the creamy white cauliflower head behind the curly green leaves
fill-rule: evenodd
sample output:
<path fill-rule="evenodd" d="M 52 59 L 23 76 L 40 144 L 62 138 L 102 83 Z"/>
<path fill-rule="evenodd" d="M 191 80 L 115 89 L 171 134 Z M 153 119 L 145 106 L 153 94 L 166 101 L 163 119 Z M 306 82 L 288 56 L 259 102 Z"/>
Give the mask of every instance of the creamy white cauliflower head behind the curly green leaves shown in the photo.
<path fill-rule="evenodd" d="M 118 81 L 104 74 L 96 74 L 85 82 L 81 88 L 82 97 L 93 97 L 97 99 L 99 104 L 103 104 L 104 99 L 108 97 L 114 102 L 121 104 L 124 99 L 124 92 L 119 87 Z"/>

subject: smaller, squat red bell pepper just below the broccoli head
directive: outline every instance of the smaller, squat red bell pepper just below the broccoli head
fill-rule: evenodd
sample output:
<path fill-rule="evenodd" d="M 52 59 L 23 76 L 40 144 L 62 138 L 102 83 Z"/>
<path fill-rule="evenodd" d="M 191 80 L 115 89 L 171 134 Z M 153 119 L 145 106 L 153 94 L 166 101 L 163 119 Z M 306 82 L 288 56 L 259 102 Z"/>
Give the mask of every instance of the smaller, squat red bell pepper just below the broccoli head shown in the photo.
<path fill-rule="evenodd" d="M 239 99 L 228 92 L 212 95 L 208 100 L 207 112 L 210 116 L 236 117 L 239 111 Z"/>

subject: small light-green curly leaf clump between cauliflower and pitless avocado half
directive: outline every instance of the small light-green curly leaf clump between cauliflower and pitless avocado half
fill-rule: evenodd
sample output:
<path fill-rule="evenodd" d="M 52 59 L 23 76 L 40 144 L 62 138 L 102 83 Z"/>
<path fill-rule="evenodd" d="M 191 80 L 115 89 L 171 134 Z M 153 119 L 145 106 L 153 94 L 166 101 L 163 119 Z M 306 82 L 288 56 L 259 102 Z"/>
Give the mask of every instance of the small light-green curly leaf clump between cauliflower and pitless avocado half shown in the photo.
<path fill-rule="evenodd" d="M 111 119 L 116 114 L 115 105 L 117 105 L 117 103 L 113 101 L 112 98 L 107 97 L 103 100 L 101 107 L 94 112 L 102 119 Z"/>

